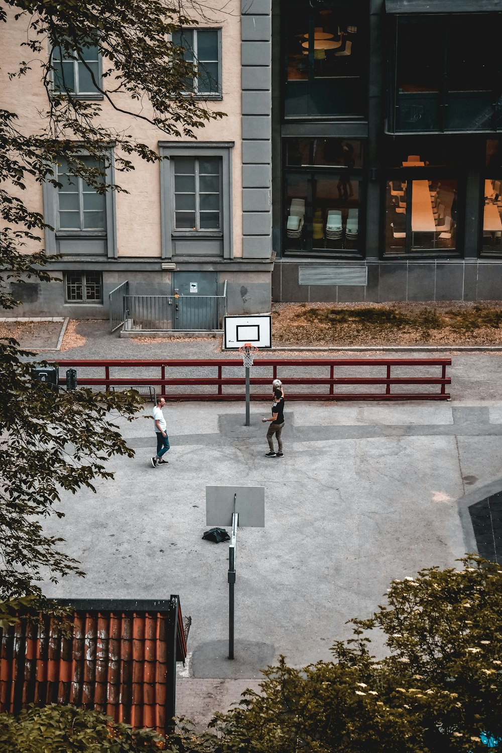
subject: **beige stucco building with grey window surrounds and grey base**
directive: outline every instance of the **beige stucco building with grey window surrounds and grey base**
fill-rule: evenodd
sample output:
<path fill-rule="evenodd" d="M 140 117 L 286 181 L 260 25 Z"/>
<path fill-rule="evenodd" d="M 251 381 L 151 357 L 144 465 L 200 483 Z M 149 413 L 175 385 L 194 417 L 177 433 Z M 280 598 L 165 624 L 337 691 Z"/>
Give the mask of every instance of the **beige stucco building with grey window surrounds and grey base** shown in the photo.
<path fill-rule="evenodd" d="M 54 228 L 42 242 L 48 253 L 62 255 L 50 271 L 63 284 L 18 283 L 14 290 L 22 304 L 17 316 L 105 318 L 110 292 L 125 282 L 130 294 L 173 297 L 178 291 L 194 297 L 222 294 L 226 281 L 229 312 L 269 310 L 269 11 L 263 0 L 250 0 L 242 8 L 240 0 L 232 0 L 224 12 L 213 11 L 198 26 L 183 29 L 179 43 L 193 51 L 207 73 L 204 80 L 195 80 L 200 97 L 208 109 L 225 113 L 196 130 L 195 140 L 166 139 L 146 120 L 101 102 L 106 127 L 132 134 L 169 159 L 149 163 L 133 156 L 131 172 L 115 171 L 112 165 L 109 177 L 124 191 L 109 191 L 105 197 L 80 179 L 71 181 L 65 165 L 57 172 L 59 189 L 27 186 L 24 202 Z M 47 111 L 41 65 L 35 59 L 26 75 L 8 80 L 8 72 L 26 57 L 21 46 L 26 23 L 2 24 L 0 29 L 0 106 L 17 113 L 23 133 L 38 133 Z M 90 48 L 88 54 L 88 66 L 96 66 L 100 75 L 97 50 Z M 75 96 L 99 99 L 80 64 L 62 57 L 59 66 L 65 77 L 72 77 Z M 129 111 L 134 106 L 126 100 L 123 105 Z M 172 327 L 183 328 L 175 319 L 173 313 Z"/>

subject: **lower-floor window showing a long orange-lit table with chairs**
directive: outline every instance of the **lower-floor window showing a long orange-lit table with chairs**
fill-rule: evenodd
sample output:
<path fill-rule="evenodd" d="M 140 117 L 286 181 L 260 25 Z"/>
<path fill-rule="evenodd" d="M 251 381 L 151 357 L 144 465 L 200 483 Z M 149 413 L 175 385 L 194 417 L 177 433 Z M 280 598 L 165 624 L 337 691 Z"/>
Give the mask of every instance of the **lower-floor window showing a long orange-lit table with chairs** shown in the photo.
<path fill-rule="evenodd" d="M 387 253 L 455 250 L 457 181 L 391 179 L 386 187 Z"/>

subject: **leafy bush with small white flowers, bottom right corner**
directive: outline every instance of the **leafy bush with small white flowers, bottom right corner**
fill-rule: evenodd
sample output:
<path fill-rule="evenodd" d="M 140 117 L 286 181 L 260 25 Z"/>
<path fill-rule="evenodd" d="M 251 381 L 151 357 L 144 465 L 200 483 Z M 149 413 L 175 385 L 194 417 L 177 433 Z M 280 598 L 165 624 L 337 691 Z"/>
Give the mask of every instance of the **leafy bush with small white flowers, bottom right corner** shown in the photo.
<path fill-rule="evenodd" d="M 392 581 L 387 604 L 351 620 L 334 660 L 302 670 L 284 657 L 262 694 L 211 726 L 213 753 L 476 753 L 502 746 L 502 568 L 475 555 L 463 569 Z M 385 636 L 385 656 L 370 654 Z"/>

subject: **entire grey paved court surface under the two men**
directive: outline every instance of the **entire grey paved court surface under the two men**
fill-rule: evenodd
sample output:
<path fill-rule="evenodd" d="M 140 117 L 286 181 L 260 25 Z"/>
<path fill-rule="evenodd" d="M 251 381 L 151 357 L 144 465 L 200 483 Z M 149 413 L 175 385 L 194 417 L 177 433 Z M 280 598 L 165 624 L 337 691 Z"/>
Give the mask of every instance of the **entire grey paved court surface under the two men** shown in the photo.
<path fill-rule="evenodd" d="M 467 505 L 502 489 L 502 401 L 488 398 L 488 380 L 485 399 L 473 399 L 467 373 L 479 374 L 482 357 L 462 358 L 471 359 L 465 395 L 451 403 L 287 404 L 282 459 L 264 457 L 268 404 L 251 404 L 248 428 L 243 404 L 168 404 L 172 450 L 155 469 L 151 420 L 119 421 L 135 459 L 111 459 L 115 479 L 96 495 L 65 496 L 66 517 L 45 526 L 87 577 L 45 592 L 179 593 L 193 621 L 177 712 L 199 727 L 244 687 L 257 689 L 278 654 L 294 666 L 329 660 L 333 641 L 350 637 L 345 621 L 376 609 L 391 578 L 454 566 L 474 550 Z M 500 371 L 500 358 L 485 358 Z M 239 530 L 233 662 L 228 547 L 201 538 L 206 484 L 265 486 L 265 529 Z"/>

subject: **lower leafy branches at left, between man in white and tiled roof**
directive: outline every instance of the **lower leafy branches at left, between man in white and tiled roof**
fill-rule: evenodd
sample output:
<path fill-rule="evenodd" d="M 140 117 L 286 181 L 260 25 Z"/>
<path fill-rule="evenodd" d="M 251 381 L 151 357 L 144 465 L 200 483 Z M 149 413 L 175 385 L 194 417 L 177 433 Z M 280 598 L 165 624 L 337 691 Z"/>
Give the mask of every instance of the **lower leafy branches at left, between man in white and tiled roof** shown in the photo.
<path fill-rule="evenodd" d="M 43 519 L 61 489 L 94 490 L 96 478 L 112 478 L 105 461 L 134 455 L 110 416 L 132 419 L 141 407 L 137 392 L 56 391 L 34 382 L 29 352 L 14 341 L 2 344 L 0 383 L 0 599 L 40 594 L 48 570 L 55 581 L 69 572 L 83 575 L 78 562 L 60 548 L 62 539 L 44 534 Z"/>

